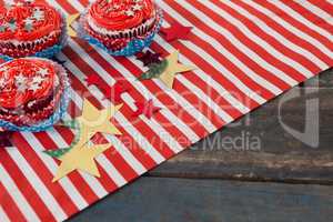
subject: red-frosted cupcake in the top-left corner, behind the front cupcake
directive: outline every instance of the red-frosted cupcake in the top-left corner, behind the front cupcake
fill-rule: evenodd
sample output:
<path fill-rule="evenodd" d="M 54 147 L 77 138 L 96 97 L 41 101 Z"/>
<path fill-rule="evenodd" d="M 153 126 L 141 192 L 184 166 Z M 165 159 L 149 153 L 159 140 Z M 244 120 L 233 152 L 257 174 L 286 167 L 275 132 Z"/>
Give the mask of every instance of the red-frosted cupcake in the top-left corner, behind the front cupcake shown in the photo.
<path fill-rule="evenodd" d="M 17 1 L 13 4 L 2 4 L 0 54 L 4 59 L 52 57 L 62 44 L 64 24 L 60 12 L 43 2 Z"/>

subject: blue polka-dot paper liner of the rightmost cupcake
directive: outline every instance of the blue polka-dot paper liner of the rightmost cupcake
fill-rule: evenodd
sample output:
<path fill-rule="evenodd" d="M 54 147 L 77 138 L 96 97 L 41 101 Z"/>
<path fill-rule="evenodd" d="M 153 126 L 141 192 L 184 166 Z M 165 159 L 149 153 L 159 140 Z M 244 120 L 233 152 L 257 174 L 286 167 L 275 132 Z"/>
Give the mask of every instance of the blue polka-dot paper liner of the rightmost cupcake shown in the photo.
<path fill-rule="evenodd" d="M 113 50 L 108 49 L 98 39 L 91 37 L 89 33 L 87 33 L 87 31 L 83 28 L 85 14 L 87 14 L 87 12 L 84 12 L 81 16 L 81 22 L 80 22 L 80 28 L 79 28 L 79 32 L 78 32 L 79 37 L 81 39 L 84 39 L 85 41 L 88 41 L 90 44 L 97 46 L 97 47 L 103 49 L 104 51 L 107 51 L 109 54 L 115 56 L 115 57 L 121 57 L 121 56 L 130 57 L 130 56 L 135 54 L 137 52 L 142 51 L 144 48 L 149 47 L 151 44 L 153 38 L 155 37 L 155 34 L 160 31 L 162 23 L 163 23 L 163 12 L 161 9 L 158 9 L 159 23 L 153 28 L 152 31 L 150 31 L 150 33 L 144 39 L 134 38 L 123 49 L 113 51 Z"/>

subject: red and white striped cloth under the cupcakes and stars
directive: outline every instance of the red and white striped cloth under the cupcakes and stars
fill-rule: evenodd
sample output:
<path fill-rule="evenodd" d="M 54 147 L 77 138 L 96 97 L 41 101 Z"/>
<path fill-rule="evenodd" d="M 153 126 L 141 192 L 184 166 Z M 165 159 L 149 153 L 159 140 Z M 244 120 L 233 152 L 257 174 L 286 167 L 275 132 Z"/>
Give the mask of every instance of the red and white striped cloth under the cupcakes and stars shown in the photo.
<path fill-rule="evenodd" d="M 81 12 L 88 0 L 49 0 L 67 14 Z M 82 97 L 95 105 L 110 101 L 89 74 L 104 85 L 125 78 L 132 90 L 114 122 L 123 137 L 105 135 L 113 147 L 98 158 L 101 178 L 81 172 L 52 183 L 58 162 L 44 149 L 67 147 L 73 134 L 53 129 L 17 133 L 17 148 L 0 149 L 0 221 L 63 221 L 104 198 L 190 144 L 333 65 L 332 0 L 157 0 L 168 27 L 194 27 L 190 41 L 167 42 L 158 36 L 152 50 L 180 50 L 180 61 L 199 69 L 176 77 L 174 90 L 159 80 L 134 81 L 141 62 L 113 58 L 78 39 L 59 56 L 72 79 L 69 117 Z M 82 93 L 83 92 L 83 93 Z M 151 120 L 132 122 L 134 101 L 153 99 L 163 109 Z"/>

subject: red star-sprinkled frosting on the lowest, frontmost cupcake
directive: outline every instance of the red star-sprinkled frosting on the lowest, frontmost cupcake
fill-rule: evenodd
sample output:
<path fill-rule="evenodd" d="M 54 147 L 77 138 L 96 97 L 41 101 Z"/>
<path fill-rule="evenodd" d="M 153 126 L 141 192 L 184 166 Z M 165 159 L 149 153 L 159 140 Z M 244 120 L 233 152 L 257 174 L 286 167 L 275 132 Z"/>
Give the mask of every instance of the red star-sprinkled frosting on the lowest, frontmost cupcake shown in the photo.
<path fill-rule="evenodd" d="M 18 59 L 0 67 L 0 108 L 16 109 L 53 93 L 56 70 L 38 59 Z"/>

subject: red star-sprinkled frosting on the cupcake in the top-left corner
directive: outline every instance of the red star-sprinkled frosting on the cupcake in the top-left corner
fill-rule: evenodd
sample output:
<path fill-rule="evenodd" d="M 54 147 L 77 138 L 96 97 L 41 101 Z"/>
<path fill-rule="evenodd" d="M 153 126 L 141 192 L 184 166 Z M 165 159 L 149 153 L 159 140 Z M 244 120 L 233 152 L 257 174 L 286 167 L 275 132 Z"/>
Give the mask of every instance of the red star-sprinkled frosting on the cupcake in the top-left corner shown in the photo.
<path fill-rule="evenodd" d="M 43 2 L 0 6 L 0 40 L 34 41 L 61 31 L 61 14 Z"/>

